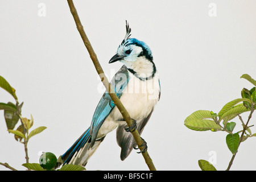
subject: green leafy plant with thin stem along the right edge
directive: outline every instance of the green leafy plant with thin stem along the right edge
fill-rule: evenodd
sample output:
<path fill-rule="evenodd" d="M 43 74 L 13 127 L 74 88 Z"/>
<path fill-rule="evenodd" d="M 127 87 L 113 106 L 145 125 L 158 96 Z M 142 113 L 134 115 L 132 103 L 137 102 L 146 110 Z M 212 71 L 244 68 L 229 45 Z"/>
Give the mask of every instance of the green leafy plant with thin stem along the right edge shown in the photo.
<path fill-rule="evenodd" d="M 254 85 L 250 90 L 246 88 L 242 89 L 242 98 L 237 98 L 228 102 L 222 107 L 218 114 L 208 110 L 197 110 L 189 115 L 184 121 L 184 125 L 188 127 L 188 129 L 195 131 L 226 131 L 228 133 L 228 135 L 226 135 L 226 144 L 233 156 L 236 155 L 241 142 L 244 142 L 249 137 L 256 137 L 256 134 L 252 134 L 248 126 L 251 115 L 256 108 L 256 81 L 247 74 L 242 75 L 241 78 L 245 78 Z M 245 123 L 240 114 L 247 111 L 250 111 L 250 114 Z M 233 130 L 236 127 L 236 122 L 231 122 L 231 120 L 237 116 L 242 122 L 243 130 L 233 133 Z M 232 158 L 232 162 L 233 160 L 234 157 Z M 228 169 L 230 168 L 230 165 L 232 165 L 232 163 L 229 164 Z M 206 160 L 199 160 L 199 166 L 202 170 L 207 170 L 210 167 L 213 167 L 212 164 L 209 164 Z"/>

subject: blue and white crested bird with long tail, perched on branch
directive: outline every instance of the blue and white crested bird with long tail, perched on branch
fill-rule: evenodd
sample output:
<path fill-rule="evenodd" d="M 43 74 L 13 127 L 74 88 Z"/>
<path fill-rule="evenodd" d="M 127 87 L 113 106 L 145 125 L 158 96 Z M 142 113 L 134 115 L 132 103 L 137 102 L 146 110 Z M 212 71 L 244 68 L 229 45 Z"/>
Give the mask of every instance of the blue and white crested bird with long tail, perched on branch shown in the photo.
<path fill-rule="evenodd" d="M 94 111 L 90 127 L 79 139 L 61 155 L 61 163 L 86 166 L 106 135 L 116 129 L 116 139 L 121 147 L 121 160 L 125 160 L 137 146 L 131 131 L 135 129 L 141 135 L 156 103 L 160 99 L 159 73 L 153 61 L 152 52 L 146 43 L 130 38 L 131 28 L 126 20 L 126 35 L 119 44 L 116 54 L 109 63 L 119 61 L 123 66 L 110 81 L 117 97 L 125 106 L 133 120 L 127 126 L 121 112 L 115 106 L 107 91 L 101 97 Z M 144 141 L 144 140 L 143 140 Z M 144 141 L 144 152 L 147 144 Z M 138 152 L 139 153 L 139 152 Z"/>

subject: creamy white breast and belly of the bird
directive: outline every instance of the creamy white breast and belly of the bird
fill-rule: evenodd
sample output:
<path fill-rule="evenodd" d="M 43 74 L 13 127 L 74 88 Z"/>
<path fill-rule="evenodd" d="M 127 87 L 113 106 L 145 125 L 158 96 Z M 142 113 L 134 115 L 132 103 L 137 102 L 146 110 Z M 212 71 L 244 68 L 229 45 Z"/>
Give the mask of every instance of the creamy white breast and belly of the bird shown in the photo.
<path fill-rule="evenodd" d="M 123 106 L 130 114 L 130 117 L 136 121 L 141 121 L 154 109 L 156 102 L 159 100 L 159 75 L 156 72 L 155 76 L 150 80 L 139 80 L 129 72 L 130 80 L 123 90 L 120 98 Z M 124 124 L 122 114 L 117 107 L 114 107 L 108 118 L 102 124 L 97 138 L 104 137 L 110 131 L 114 130 L 118 125 Z"/>

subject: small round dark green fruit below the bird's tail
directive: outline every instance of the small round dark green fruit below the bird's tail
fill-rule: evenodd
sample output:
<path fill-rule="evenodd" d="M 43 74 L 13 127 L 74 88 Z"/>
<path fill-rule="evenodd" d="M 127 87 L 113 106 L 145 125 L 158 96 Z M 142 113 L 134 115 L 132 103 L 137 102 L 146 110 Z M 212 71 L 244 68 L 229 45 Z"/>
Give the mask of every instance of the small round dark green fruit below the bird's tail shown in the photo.
<path fill-rule="evenodd" d="M 39 158 L 39 164 L 42 168 L 50 170 L 56 166 L 57 158 L 51 152 L 43 152 Z"/>

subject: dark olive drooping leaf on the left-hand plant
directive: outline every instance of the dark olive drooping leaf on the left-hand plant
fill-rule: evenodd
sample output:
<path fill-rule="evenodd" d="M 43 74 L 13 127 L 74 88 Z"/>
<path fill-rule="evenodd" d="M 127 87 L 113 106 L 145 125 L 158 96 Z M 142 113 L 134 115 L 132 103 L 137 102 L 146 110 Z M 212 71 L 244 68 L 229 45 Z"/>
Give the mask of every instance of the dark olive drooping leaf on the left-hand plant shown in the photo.
<path fill-rule="evenodd" d="M 17 114 L 17 108 L 11 102 L 8 102 L 5 106 L 2 105 L 2 107 L 5 107 L 5 108 L 9 107 L 9 109 L 4 110 L 3 114 L 5 116 L 5 122 L 6 122 L 7 129 L 13 130 L 16 123 L 19 121 L 19 115 Z M 10 109 L 10 108 L 12 108 L 12 109 Z"/>

